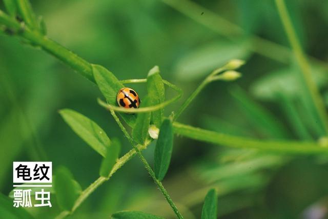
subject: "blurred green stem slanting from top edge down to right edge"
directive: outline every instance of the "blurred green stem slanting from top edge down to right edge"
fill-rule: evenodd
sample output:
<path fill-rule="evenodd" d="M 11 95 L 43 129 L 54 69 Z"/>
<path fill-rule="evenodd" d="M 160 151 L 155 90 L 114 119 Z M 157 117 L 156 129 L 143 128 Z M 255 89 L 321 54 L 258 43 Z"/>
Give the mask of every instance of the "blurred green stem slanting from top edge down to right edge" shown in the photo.
<path fill-rule="evenodd" d="M 277 6 L 277 9 L 279 12 L 279 16 L 281 18 L 281 22 L 282 22 L 285 32 L 288 36 L 289 42 L 292 46 L 297 63 L 301 68 L 304 82 L 305 82 L 306 86 L 308 87 L 308 90 L 312 97 L 313 104 L 314 104 L 317 114 L 320 118 L 320 122 L 323 126 L 323 129 L 325 130 L 325 133 L 328 134 L 328 117 L 326 114 L 326 110 L 325 110 L 323 101 L 320 97 L 320 92 L 311 76 L 310 64 L 308 63 L 308 60 L 306 59 L 304 52 L 301 48 L 301 45 L 297 38 L 295 29 L 291 22 L 291 18 L 286 9 L 286 5 L 285 5 L 284 1 L 283 0 L 275 0 L 275 2 L 276 2 L 276 6 Z"/>

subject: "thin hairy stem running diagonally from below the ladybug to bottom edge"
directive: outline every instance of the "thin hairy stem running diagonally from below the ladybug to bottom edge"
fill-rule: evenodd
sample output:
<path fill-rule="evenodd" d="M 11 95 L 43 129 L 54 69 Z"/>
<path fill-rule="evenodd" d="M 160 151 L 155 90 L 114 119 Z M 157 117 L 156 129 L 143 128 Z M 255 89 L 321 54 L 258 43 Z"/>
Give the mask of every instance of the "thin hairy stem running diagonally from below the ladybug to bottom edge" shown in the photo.
<path fill-rule="evenodd" d="M 157 180 L 157 178 L 155 176 L 155 173 L 152 170 L 152 168 L 149 166 L 148 162 L 146 161 L 146 158 L 144 157 L 144 155 L 141 154 L 140 150 L 135 146 L 132 137 L 130 136 L 130 134 L 128 133 L 128 131 L 126 130 L 126 128 L 123 126 L 123 124 L 119 121 L 119 118 L 117 117 L 117 115 L 115 114 L 115 112 L 113 110 L 110 110 L 110 112 L 111 112 L 112 116 L 114 117 L 114 120 L 116 121 L 117 125 L 120 127 L 120 129 L 122 130 L 122 132 L 124 133 L 124 135 L 128 138 L 128 141 L 132 145 L 133 149 L 136 151 L 136 153 L 139 156 L 141 162 L 144 164 L 145 168 L 147 169 L 149 175 L 153 178 L 153 181 L 156 183 L 156 185 L 158 186 L 159 190 L 165 196 L 166 200 L 168 201 L 169 205 L 173 209 L 173 211 L 176 214 L 176 216 L 178 218 L 183 218 L 183 216 L 181 215 L 181 213 L 178 211 L 176 205 L 172 201 L 172 198 L 170 197 L 169 193 L 163 187 L 162 183 L 159 180 Z"/>

